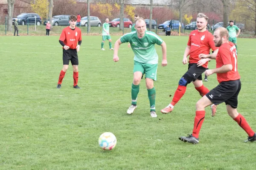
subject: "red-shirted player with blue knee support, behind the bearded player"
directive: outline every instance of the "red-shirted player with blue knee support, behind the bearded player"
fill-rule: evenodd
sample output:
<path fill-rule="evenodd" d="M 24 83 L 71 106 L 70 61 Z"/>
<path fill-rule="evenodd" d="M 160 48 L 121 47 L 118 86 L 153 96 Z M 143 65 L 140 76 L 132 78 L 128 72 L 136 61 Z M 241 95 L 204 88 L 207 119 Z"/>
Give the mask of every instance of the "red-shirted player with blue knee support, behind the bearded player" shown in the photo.
<path fill-rule="evenodd" d="M 172 102 L 161 110 L 162 113 L 172 112 L 174 106 L 181 99 L 186 92 L 186 86 L 193 82 L 195 89 L 201 96 L 204 96 L 209 90 L 203 85 L 202 73 L 207 70 L 208 61 L 211 59 L 199 59 L 200 54 L 208 54 L 209 56 L 216 56 L 218 48 L 215 47 L 213 42 L 213 35 L 207 31 L 208 17 L 205 14 L 199 13 L 197 15 L 197 30 L 194 30 L 189 35 L 189 41 L 187 43 L 186 50 L 183 56 L 183 64 L 188 62 L 187 57 L 189 55 L 189 69 L 180 78 L 179 85 L 173 96 Z M 210 49 L 214 52 L 209 54 Z M 212 116 L 215 116 L 215 105 L 211 106 Z"/>

